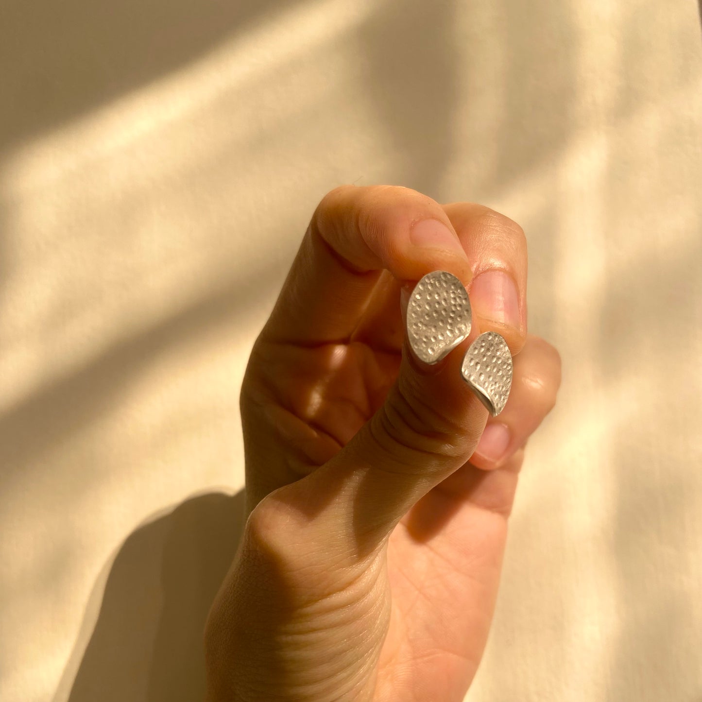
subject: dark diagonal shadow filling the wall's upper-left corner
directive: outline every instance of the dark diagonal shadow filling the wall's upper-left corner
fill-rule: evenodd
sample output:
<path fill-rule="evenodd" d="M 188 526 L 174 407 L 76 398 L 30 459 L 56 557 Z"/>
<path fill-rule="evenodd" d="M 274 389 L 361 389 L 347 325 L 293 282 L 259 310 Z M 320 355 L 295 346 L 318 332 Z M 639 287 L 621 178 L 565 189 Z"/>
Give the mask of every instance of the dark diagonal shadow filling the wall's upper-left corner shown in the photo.
<path fill-rule="evenodd" d="M 300 1 L 300 0 L 296 0 Z M 0 11 L 0 154 L 197 59 L 284 0 L 9 0 Z"/>

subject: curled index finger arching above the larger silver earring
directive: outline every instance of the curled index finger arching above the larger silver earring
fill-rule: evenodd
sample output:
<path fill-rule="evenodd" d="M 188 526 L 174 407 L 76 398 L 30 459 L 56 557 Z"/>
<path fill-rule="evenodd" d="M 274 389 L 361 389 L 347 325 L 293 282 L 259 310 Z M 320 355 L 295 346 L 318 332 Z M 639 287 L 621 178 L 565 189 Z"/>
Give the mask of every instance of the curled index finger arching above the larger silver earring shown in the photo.
<path fill-rule="evenodd" d="M 470 284 L 470 263 L 444 209 L 405 187 L 343 185 L 314 211 L 274 310 L 267 341 L 350 340 L 380 272 L 402 283 L 446 270 Z"/>

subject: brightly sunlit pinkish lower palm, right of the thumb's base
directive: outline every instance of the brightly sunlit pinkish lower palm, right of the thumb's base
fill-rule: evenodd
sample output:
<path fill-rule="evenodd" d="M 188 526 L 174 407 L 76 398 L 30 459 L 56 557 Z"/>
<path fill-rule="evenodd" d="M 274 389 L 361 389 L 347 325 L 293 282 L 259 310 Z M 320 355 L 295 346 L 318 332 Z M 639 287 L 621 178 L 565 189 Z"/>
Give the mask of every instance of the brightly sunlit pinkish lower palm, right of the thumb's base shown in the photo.
<path fill-rule="evenodd" d="M 475 675 L 496 595 L 505 519 L 465 503 L 424 541 L 422 531 L 432 532 L 436 515 L 446 509 L 442 496 L 429 494 L 424 500 L 388 544 L 393 611 L 380 658 L 378 697 L 383 700 L 408 698 L 397 693 L 403 676 L 403 687 L 417 701 L 458 698 Z M 434 511 L 434 502 L 439 504 L 432 516 L 427 513 Z M 469 552 L 475 534 L 480 541 Z M 476 559 L 491 564 L 487 574 L 492 577 L 476 578 Z"/>

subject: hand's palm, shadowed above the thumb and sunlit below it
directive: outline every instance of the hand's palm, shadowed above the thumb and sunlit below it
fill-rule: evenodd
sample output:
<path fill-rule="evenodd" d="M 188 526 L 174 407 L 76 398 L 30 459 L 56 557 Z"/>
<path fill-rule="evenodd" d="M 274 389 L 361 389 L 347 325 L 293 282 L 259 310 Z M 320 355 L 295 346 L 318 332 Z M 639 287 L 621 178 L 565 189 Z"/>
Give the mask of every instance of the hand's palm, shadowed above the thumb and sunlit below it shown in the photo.
<path fill-rule="evenodd" d="M 329 460 L 382 404 L 399 367 L 398 324 L 395 314 L 373 319 L 373 328 L 384 330 L 378 343 L 364 333 L 363 340 L 357 335 L 312 348 L 259 345 L 263 362 L 256 367 L 269 371 L 258 380 L 300 435 L 293 446 L 299 458 L 287 461 L 282 483 Z M 388 347 L 388 330 L 395 348 Z M 290 436 L 287 430 L 288 442 Z M 279 453 L 289 455 L 289 443 Z M 432 490 L 393 532 L 386 553 L 392 611 L 378 663 L 378 700 L 455 700 L 475 674 L 505 540 L 501 505 L 511 494 L 489 484 L 495 477 L 466 464 L 449 479 L 456 487 L 450 495 Z M 486 493 L 493 509 L 484 506 Z M 480 498 L 473 501 L 473 494 Z"/>

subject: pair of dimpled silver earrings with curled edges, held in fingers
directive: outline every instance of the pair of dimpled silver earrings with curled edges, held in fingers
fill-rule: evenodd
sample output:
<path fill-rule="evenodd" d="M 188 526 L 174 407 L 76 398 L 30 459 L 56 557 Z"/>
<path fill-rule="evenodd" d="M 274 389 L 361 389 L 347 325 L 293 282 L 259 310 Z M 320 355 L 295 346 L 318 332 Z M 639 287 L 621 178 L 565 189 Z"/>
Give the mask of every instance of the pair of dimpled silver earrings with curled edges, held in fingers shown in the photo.
<path fill-rule="evenodd" d="M 415 286 L 407 305 L 407 338 L 416 357 L 435 364 L 470 334 L 468 291 L 444 270 L 428 273 Z M 512 386 L 512 354 L 495 331 L 481 334 L 465 352 L 461 376 L 496 416 L 507 404 Z"/>

